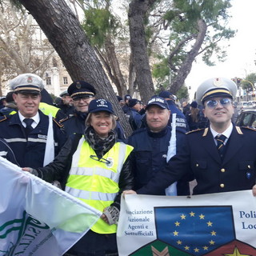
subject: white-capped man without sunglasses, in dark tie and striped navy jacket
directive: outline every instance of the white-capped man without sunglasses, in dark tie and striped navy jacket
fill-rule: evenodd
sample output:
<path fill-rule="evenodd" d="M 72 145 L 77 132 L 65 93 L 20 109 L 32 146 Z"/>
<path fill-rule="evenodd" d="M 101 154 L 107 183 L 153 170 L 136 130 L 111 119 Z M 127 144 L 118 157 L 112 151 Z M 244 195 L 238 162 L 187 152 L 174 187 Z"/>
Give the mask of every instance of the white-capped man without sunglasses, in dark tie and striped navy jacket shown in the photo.
<path fill-rule="evenodd" d="M 9 143 L 22 167 L 46 165 L 50 161 L 46 145 L 53 145 L 50 154 L 54 158 L 66 142 L 62 126 L 38 110 L 43 87 L 42 78 L 36 74 L 20 74 L 11 80 L 18 113 L 0 119 L 0 137 Z"/>

